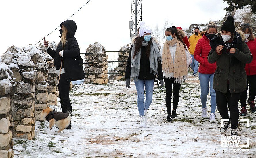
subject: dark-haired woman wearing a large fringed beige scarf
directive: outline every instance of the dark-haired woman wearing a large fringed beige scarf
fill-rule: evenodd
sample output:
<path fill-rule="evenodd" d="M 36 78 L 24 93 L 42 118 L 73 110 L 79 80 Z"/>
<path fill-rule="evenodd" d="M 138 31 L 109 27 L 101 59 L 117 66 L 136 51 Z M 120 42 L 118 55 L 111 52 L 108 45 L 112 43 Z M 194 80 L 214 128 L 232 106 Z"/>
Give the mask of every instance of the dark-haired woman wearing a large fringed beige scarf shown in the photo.
<path fill-rule="evenodd" d="M 177 117 L 176 108 L 179 103 L 179 90 L 182 82 L 188 78 L 188 66 L 192 63 L 182 37 L 175 26 L 165 30 L 166 41 L 162 45 L 162 68 L 165 80 L 165 102 L 167 108 L 167 121 Z M 172 90 L 173 84 L 173 90 Z M 173 91 L 173 109 L 171 112 L 171 96 Z"/>

